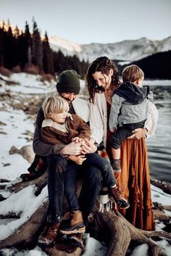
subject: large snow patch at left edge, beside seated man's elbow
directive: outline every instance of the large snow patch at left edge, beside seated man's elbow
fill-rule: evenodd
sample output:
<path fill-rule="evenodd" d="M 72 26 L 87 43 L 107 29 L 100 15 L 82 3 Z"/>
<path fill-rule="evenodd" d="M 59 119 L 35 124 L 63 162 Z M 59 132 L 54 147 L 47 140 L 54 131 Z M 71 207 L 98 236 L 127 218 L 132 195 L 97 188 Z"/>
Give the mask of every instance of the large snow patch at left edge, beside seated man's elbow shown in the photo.
<path fill-rule="evenodd" d="M 22 110 L 11 110 L 1 111 L 0 121 L 5 124 L 0 128 L 0 178 L 14 181 L 28 169 L 30 164 L 20 154 L 9 155 L 9 149 L 13 145 L 20 149 L 22 146 L 32 144 L 25 139 L 25 133 L 34 132 L 33 120 L 28 119 Z"/>

